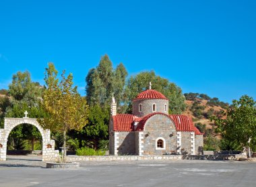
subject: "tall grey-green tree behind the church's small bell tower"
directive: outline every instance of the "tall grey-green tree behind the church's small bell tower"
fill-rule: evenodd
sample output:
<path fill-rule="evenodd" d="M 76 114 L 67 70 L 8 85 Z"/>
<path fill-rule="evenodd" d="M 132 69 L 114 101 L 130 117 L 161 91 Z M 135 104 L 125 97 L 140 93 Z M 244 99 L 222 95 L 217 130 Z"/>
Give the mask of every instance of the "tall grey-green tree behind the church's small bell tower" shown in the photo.
<path fill-rule="evenodd" d="M 91 69 L 86 76 L 88 104 L 107 108 L 114 94 L 119 111 L 124 111 L 122 103 L 125 101 L 126 77 L 127 70 L 122 63 L 114 70 L 108 56 L 102 56 L 98 66 Z"/>

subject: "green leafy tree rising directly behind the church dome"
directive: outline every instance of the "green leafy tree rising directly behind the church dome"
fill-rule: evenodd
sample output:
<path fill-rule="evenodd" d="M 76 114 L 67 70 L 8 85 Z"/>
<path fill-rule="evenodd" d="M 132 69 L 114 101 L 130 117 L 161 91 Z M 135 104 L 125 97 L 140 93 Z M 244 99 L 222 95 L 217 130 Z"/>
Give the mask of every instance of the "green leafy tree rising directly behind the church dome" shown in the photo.
<path fill-rule="evenodd" d="M 169 82 L 166 78 L 156 76 L 154 71 L 140 72 L 136 76 L 131 76 L 128 80 L 126 93 L 128 96 L 127 105 L 128 112 L 131 112 L 131 101 L 142 92 L 147 90 L 149 83 L 152 82 L 152 88 L 162 92 L 169 99 L 169 111 L 172 114 L 181 114 L 185 111 L 185 97 L 182 94 L 181 88 L 176 84 Z"/>

